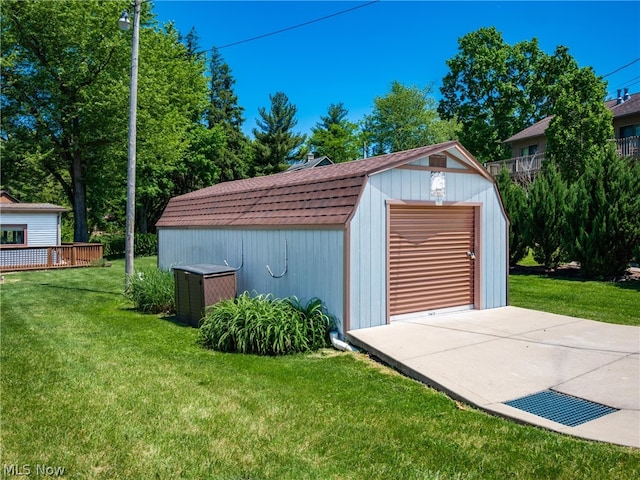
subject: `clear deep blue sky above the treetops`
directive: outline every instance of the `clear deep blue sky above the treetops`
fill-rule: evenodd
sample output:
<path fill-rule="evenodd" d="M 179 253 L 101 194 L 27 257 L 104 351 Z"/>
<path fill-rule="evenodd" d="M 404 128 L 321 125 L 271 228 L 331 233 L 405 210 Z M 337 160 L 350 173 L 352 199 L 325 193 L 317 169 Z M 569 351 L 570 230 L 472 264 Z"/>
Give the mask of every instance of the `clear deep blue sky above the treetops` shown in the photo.
<path fill-rule="evenodd" d="M 565 45 L 580 66 L 592 66 L 598 75 L 640 58 L 638 1 L 367 3 L 156 0 L 154 11 L 182 34 L 195 27 L 203 50 L 220 49 L 236 80 L 248 134 L 258 108 L 268 109 L 269 95 L 278 91 L 298 109 L 295 130 L 307 134 L 331 103 L 343 102 L 354 121 L 371 113 L 374 98 L 384 96 L 394 80 L 431 84 L 439 98 L 458 38 L 481 27 L 496 27 L 510 44 L 536 37 L 547 53 Z M 365 6 L 230 45 L 358 5 Z M 640 60 L 606 79 L 610 95 L 622 87 L 640 91 Z"/>

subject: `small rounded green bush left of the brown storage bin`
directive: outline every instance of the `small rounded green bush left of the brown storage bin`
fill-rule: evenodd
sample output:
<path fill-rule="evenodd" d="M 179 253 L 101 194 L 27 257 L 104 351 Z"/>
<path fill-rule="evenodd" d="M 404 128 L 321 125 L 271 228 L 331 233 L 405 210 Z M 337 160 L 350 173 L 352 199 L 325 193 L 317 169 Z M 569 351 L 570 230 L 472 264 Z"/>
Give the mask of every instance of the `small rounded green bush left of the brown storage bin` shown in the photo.
<path fill-rule="evenodd" d="M 136 309 L 146 313 L 175 313 L 174 279 L 171 271 L 158 268 L 135 271 L 126 292 Z"/>

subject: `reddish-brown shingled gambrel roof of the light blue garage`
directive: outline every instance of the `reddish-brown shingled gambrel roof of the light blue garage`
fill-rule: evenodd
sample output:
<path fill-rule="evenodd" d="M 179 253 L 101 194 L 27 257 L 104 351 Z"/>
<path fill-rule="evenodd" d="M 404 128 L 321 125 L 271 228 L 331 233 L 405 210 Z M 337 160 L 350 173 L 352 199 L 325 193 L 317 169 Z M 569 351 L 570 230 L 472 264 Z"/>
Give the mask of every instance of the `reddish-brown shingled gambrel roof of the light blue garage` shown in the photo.
<path fill-rule="evenodd" d="M 458 142 L 224 182 L 169 201 L 157 227 L 340 225 L 353 214 L 369 175 L 448 152 L 493 178 Z"/>

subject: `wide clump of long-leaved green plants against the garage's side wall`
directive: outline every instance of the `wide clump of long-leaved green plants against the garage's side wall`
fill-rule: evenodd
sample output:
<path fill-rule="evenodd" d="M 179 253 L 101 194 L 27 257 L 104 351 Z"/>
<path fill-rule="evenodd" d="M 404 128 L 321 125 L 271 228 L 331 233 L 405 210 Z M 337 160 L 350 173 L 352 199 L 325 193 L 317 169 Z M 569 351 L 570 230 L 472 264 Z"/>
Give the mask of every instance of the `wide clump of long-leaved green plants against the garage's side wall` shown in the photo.
<path fill-rule="evenodd" d="M 211 307 L 200 326 L 199 343 L 223 352 L 286 355 L 327 346 L 333 323 L 317 298 L 303 305 L 295 297 L 244 292 Z"/>

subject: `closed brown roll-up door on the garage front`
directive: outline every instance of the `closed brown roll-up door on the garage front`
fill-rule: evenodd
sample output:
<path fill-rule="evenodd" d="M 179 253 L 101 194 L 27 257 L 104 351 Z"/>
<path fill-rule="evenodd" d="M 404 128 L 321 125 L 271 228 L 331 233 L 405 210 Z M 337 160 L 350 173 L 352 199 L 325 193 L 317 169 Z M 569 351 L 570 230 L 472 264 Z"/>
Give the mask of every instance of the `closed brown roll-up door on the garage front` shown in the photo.
<path fill-rule="evenodd" d="M 474 207 L 390 208 L 390 315 L 473 304 Z"/>

